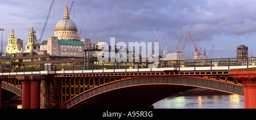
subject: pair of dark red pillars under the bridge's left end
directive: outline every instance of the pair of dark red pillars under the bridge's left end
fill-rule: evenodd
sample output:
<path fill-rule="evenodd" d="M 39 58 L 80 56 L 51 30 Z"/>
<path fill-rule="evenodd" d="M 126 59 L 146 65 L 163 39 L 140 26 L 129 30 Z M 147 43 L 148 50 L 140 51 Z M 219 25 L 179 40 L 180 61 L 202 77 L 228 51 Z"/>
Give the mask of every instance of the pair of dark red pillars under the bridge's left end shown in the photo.
<path fill-rule="evenodd" d="M 40 109 L 41 76 L 17 77 L 22 81 L 22 109 Z"/>

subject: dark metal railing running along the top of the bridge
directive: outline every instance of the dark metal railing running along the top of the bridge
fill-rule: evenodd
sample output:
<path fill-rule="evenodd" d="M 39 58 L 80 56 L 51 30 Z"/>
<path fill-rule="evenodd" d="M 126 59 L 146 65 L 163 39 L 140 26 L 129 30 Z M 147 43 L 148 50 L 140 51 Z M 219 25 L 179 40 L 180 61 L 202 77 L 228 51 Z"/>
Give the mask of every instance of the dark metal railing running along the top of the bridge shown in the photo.
<path fill-rule="evenodd" d="M 78 65 L 43 65 L 40 67 L 2 68 L 0 73 L 39 72 L 43 71 L 84 71 L 105 69 L 139 69 L 148 68 L 151 63 L 97 63 Z M 256 65 L 256 57 L 225 58 L 225 59 L 197 59 L 197 60 L 169 60 L 159 61 L 158 68 L 181 68 L 181 67 L 232 67 Z M 256 67 L 256 66 L 255 66 Z M 0 74 L 1 75 L 1 74 Z M 3 74 L 2 74 L 3 75 Z"/>

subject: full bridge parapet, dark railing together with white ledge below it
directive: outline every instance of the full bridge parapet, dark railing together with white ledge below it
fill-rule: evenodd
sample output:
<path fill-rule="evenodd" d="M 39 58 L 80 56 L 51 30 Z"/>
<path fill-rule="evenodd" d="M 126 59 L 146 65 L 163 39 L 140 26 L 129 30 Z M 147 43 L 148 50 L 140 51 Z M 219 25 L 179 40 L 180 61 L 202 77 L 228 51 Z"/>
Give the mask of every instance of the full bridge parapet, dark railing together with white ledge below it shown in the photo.
<path fill-rule="evenodd" d="M 255 67 L 256 57 L 159 61 L 157 68 L 148 68 L 148 64 L 151 63 L 46 64 L 40 67 L 3 68 L 0 69 L 0 76 L 152 71 L 228 71 L 228 69 Z"/>

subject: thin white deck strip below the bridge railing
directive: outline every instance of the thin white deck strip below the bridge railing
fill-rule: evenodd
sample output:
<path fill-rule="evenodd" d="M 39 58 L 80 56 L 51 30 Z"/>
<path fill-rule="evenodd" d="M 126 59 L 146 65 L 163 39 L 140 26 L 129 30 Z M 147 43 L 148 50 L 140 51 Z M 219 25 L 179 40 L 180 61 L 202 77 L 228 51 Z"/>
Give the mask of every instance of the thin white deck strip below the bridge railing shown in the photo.
<path fill-rule="evenodd" d="M 253 68 L 255 65 L 249 65 L 248 68 Z M 73 67 L 76 68 L 76 67 Z M 247 66 L 223 66 L 223 67 L 167 67 L 167 68 L 133 68 L 133 69 L 61 69 L 61 71 L 13 71 L 13 72 L 3 72 L 0 76 L 23 76 L 23 75 L 60 75 L 60 74 L 80 74 L 80 73 L 129 73 L 129 72 L 166 72 L 166 71 L 228 71 L 228 69 L 240 69 L 247 68 Z"/>

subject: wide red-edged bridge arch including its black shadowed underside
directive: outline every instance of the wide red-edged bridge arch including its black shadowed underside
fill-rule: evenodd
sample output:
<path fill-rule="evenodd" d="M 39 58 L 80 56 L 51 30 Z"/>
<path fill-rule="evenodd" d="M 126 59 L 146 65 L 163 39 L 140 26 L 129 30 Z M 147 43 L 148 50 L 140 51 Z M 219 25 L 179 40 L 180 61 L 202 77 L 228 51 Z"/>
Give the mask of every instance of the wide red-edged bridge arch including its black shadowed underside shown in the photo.
<path fill-rule="evenodd" d="M 242 85 L 192 76 L 143 76 L 109 82 L 86 90 L 60 107 L 145 108 L 173 94 L 207 88 L 243 96 Z"/>

